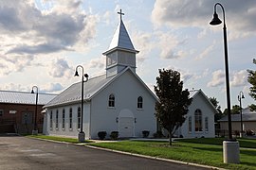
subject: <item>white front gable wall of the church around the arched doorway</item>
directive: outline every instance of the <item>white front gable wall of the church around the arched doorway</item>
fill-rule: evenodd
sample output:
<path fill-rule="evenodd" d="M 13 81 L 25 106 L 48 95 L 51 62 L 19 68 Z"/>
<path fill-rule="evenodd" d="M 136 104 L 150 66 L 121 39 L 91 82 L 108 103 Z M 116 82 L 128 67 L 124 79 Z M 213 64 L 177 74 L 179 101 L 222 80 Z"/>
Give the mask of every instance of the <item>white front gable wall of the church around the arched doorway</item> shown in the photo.
<path fill-rule="evenodd" d="M 108 107 L 109 94 L 115 94 L 115 108 Z M 137 110 L 137 97 L 143 97 L 143 109 Z M 142 137 L 142 130 L 149 130 L 150 135 L 156 131 L 155 97 L 127 71 L 119 76 L 91 101 L 91 138 L 98 138 L 99 131 L 106 131 L 107 137 L 111 131 L 119 131 L 116 122 L 120 110 L 131 110 L 136 118 L 135 136 Z"/>

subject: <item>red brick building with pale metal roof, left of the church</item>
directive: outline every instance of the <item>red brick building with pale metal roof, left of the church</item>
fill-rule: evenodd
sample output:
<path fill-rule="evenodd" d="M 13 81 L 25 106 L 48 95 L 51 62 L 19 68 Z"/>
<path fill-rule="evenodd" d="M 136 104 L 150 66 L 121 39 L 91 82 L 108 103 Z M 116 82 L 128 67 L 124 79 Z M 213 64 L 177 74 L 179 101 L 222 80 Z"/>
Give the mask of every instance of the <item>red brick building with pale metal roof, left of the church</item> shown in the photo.
<path fill-rule="evenodd" d="M 43 131 L 42 108 L 56 94 L 38 93 L 37 128 Z M 31 133 L 35 123 L 36 93 L 0 91 L 0 133 Z"/>

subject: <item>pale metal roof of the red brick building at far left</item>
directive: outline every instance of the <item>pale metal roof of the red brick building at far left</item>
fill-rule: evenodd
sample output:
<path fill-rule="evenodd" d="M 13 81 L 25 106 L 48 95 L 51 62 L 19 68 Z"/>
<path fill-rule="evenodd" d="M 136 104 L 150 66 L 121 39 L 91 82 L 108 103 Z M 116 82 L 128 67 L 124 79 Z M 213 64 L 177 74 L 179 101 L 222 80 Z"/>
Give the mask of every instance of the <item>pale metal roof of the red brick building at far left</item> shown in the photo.
<path fill-rule="evenodd" d="M 38 105 L 46 105 L 56 94 L 38 93 Z M 0 91 L 0 103 L 35 105 L 35 93 Z"/>

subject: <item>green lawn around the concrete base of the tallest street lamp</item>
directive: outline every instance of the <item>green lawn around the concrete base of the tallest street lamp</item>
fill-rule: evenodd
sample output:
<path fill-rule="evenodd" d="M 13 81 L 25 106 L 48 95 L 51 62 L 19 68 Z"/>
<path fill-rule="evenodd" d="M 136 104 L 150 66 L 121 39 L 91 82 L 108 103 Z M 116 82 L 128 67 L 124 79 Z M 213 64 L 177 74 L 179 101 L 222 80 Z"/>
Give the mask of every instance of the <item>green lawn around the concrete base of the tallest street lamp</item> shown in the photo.
<path fill-rule="evenodd" d="M 167 142 L 141 141 L 95 143 L 90 145 L 228 169 L 256 169 L 256 140 L 239 139 L 240 144 L 243 146 L 243 148 L 240 148 L 240 164 L 223 163 L 223 140 L 221 138 L 186 139 L 174 142 L 173 146 L 169 146 Z"/>

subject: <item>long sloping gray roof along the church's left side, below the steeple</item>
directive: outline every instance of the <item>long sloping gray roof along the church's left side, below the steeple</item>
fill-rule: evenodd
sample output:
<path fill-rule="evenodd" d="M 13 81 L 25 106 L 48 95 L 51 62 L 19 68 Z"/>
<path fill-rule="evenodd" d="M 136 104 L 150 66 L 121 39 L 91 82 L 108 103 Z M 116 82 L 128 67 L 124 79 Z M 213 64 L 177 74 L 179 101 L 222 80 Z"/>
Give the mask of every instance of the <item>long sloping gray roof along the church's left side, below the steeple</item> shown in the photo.
<path fill-rule="evenodd" d="M 102 75 L 89 78 L 88 81 L 84 82 L 83 84 L 84 100 L 91 99 L 91 97 L 98 93 L 107 83 L 109 83 L 115 77 L 116 76 L 106 77 L 106 75 Z M 71 85 L 66 90 L 64 90 L 63 93 L 60 93 L 50 102 L 48 102 L 44 108 L 81 101 L 81 86 L 81 82 Z"/>

